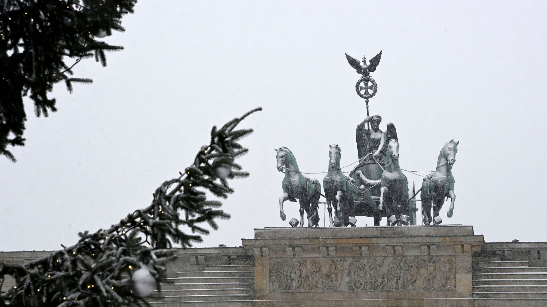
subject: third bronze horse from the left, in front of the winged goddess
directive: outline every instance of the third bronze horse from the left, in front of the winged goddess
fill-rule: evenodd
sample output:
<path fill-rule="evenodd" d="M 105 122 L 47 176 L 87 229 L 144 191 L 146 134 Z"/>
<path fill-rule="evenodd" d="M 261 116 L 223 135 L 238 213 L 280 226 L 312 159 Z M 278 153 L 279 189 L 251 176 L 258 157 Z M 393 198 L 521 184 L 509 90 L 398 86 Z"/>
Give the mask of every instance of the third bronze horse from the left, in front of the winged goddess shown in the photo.
<path fill-rule="evenodd" d="M 401 172 L 399 167 L 399 142 L 396 138 L 389 140 L 386 148 L 382 178 L 370 180 L 365 177 L 362 171 L 357 170 L 356 174 L 366 184 L 374 185 L 381 183 L 380 205 L 378 210 L 386 209 L 397 219 L 397 225 L 401 225 L 403 212 L 408 211 L 408 179 Z M 385 208 L 384 208 L 385 207 Z"/>

